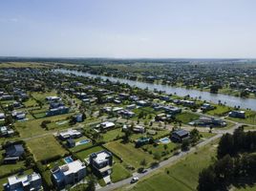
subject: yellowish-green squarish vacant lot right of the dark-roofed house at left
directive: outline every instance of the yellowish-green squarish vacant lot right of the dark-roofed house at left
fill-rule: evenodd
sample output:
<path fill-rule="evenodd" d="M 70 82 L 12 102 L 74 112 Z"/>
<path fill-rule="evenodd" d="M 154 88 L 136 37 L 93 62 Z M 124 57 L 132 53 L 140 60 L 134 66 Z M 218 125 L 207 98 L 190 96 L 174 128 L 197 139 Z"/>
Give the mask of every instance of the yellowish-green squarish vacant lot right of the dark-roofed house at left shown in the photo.
<path fill-rule="evenodd" d="M 35 160 L 49 159 L 58 155 L 63 156 L 67 153 L 53 136 L 32 138 L 27 141 L 27 144 Z"/>

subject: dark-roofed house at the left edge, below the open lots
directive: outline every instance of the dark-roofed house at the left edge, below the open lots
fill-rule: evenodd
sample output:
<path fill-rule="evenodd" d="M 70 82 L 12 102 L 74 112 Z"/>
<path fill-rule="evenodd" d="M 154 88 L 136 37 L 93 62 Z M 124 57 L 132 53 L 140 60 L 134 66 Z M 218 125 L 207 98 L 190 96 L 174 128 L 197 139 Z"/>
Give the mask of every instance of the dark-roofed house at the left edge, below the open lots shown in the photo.
<path fill-rule="evenodd" d="M 15 163 L 24 154 L 24 148 L 22 144 L 13 144 L 6 148 L 5 163 Z"/>

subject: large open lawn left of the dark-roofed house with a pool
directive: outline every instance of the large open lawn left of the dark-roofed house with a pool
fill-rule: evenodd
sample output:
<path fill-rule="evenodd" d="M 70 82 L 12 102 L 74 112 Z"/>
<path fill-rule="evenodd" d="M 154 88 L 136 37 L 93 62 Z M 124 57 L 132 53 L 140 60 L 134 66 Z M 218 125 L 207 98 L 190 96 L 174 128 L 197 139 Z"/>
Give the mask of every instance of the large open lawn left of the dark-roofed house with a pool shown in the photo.
<path fill-rule="evenodd" d="M 122 144 L 119 140 L 108 142 L 105 146 L 118 157 L 123 159 L 127 164 L 139 168 L 140 161 L 146 159 L 147 163 L 150 164 L 154 161 L 153 157 L 146 152 L 143 152 L 139 148 L 135 148 L 134 144 L 127 143 Z"/>

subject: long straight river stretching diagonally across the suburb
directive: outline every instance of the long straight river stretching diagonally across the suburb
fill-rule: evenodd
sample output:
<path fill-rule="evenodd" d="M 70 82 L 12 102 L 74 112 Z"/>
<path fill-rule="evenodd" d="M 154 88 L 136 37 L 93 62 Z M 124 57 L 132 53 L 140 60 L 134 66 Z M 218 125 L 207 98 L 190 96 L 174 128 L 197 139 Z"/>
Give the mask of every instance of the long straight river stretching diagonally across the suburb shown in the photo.
<path fill-rule="evenodd" d="M 191 96 L 191 97 L 202 97 L 202 100 L 206 100 L 213 103 L 218 103 L 219 100 L 222 101 L 222 103 L 226 103 L 228 106 L 240 106 L 241 108 L 250 108 L 251 110 L 256 111 L 256 99 L 253 98 L 242 98 L 238 96 L 227 96 L 222 94 L 212 94 L 208 92 L 202 92 L 198 90 L 191 90 L 191 89 L 185 89 L 181 87 L 173 87 L 168 85 L 161 85 L 161 84 L 152 84 L 147 82 L 141 82 L 141 81 L 134 81 L 130 79 L 124 79 L 124 78 L 117 78 L 117 77 L 110 77 L 110 76 L 104 76 L 104 75 L 97 75 L 97 74 L 89 74 L 89 73 L 83 73 L 83 72 L 77 72 L 77 71 L 69 71 L 65 69 L 58 69 L 54 70 L 55 72 L 63 73 L 63 74 L 76 74 L 81 76 L 87 76 L 87 77 L 100 77 L 101 79 L 109 79 L 110 81 L 120 83 L 127 83 L 130 86 L 136 86 L 141 89 L 148 88 L 149 90 L 157 89 L 158 91 L 164 91 L 166 94 L 174 94 L 176 93 L 178 96 Z"/>

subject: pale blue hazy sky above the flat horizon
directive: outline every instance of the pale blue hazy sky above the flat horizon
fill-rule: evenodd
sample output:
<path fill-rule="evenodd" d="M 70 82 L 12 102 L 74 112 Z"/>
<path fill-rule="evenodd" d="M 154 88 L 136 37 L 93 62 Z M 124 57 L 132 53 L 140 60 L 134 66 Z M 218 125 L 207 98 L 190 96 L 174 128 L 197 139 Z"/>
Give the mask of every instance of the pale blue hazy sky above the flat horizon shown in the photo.
<path fill-rule="evenodd" d="M 0 0 L 0 56 L 256 58 L 255 0 Z"/>

